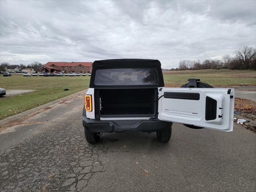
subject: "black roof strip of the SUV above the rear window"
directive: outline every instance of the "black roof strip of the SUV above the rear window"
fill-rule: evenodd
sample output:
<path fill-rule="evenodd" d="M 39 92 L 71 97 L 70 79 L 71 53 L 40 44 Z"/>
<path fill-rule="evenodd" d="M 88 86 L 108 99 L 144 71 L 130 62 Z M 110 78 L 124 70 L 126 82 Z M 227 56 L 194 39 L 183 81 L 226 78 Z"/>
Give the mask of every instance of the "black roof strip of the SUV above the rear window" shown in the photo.
<path fill-rule="evenodd" d="M 92 63 L 92 67 L 120 67 L 120 66 L 161 66 L 159 60 L 154 59 L 108 59 Z"/>

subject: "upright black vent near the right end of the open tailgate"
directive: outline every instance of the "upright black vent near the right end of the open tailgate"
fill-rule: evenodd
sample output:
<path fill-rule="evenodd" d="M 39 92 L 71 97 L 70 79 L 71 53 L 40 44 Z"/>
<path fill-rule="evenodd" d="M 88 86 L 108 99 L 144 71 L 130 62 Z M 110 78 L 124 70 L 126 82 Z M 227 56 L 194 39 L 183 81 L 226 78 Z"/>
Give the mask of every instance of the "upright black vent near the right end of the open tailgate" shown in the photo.
<path fill-rule="evenodd" d="M 216 111 L 217 111 L 217 101 L 213 98 L 206 96 L 205 103 L 205 120 L 214 120 L 216 119 Z"/>

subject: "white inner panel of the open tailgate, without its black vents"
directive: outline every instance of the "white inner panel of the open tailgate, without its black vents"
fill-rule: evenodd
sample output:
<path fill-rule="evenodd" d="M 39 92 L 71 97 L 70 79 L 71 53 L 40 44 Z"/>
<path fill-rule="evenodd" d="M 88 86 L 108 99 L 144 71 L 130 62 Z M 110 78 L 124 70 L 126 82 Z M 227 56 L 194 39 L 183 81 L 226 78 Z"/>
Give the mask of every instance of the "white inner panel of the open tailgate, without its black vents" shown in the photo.
<path fill-rule="evenodd" d="M 164 98 L 164 92 L 199 93 L 199 100 Z M 204 128 L 232 131 L 234 118 L 234 89 L 228 88 L 162 88 L 158 89 L 158 119 Z M 217 101 L 215 120 L 205 120 L 206 96 Z M 230 98 L 233 96 L 233 98 Z M 222 109 L 220 109 L 222 108 Z M 222 118 L 218 118 L 218 116 Z"/>

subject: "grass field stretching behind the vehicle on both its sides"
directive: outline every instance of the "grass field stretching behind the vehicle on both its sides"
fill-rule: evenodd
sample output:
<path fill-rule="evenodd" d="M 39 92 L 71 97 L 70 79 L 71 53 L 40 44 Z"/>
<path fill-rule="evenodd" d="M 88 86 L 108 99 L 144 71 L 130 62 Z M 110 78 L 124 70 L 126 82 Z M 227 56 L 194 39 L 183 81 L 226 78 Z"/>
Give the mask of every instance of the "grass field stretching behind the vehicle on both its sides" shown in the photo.
<path fill-rule="evenodd" d="M 188 78 L 200 78 L 213 86 L 256 85 L 256 72 L 252 70 L 187 70 L 164 71 L 166 87 L 180 87 Z M 89 87 L 90 77 L 23 77 L 13 74 L 0 76 L 0 87 L 6 90 L 36 90 L 7 98 L 0 98 L 0 120 L 14 114 L 46 104 Z M 68 88 L 69 91 L 64 91 Z"/>

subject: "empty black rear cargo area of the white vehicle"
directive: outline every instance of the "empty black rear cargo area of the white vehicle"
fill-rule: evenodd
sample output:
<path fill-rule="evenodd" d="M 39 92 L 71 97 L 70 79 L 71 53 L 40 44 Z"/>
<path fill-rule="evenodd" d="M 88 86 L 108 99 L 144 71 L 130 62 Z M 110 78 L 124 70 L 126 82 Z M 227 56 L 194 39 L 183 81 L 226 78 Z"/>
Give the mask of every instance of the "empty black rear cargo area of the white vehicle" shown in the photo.
<path fill-rule="evenodd" d="M 100 89 L 100 116 L 154 116 L 157 89 Z"/>

